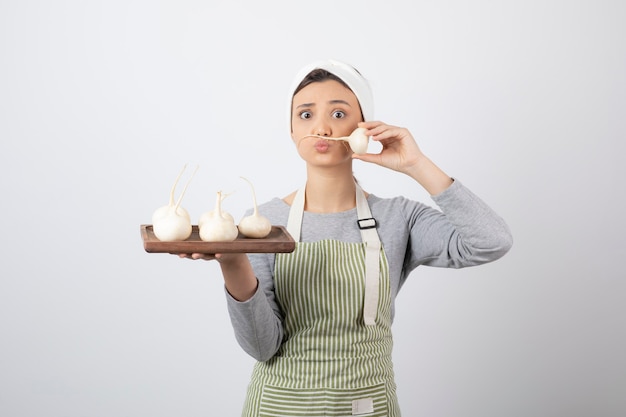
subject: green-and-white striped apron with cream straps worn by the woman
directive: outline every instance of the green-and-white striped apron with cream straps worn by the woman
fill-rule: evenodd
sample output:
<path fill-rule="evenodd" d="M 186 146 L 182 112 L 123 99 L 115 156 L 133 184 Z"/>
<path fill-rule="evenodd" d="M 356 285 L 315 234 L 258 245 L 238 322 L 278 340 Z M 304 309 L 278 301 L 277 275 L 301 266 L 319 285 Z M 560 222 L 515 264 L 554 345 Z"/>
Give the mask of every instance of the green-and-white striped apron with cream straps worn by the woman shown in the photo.
<path fill-rule="evenodd" d="M 275 261 L 284 342 L 256 363 L 242 415 L 399 417 L 389 268 L 365 195 L 357 185 L 363 243 L 299 242 L 303 212 L 304 188 L 289 213 L 296 249 Z"/>

